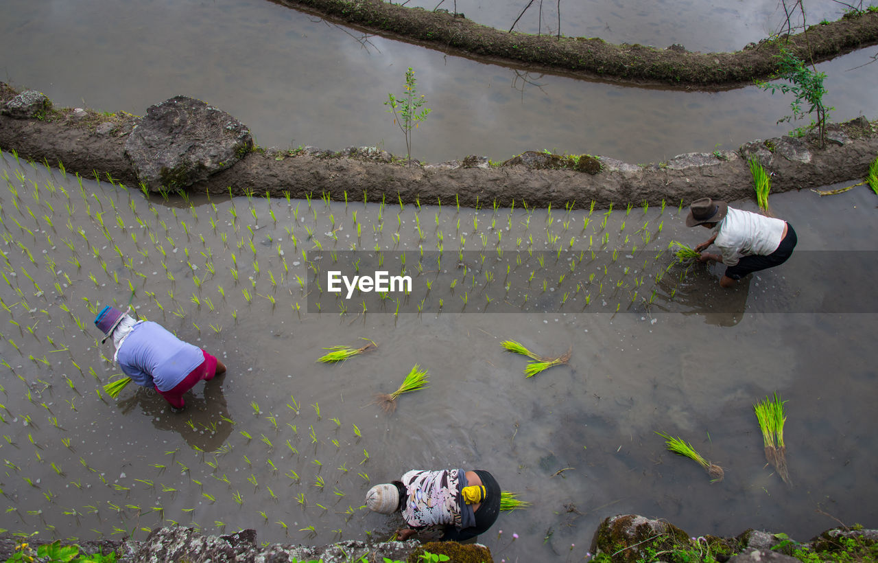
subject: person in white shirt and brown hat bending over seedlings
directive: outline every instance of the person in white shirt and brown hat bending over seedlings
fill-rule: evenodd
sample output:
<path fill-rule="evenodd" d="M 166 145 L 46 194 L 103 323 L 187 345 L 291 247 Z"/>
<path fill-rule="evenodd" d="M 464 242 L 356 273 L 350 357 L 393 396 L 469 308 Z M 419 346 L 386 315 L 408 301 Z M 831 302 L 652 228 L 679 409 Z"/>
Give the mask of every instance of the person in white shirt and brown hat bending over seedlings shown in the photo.
<path fill-rule="evenodd" d="M 724 201 L 696 199 L 689 206 L 686 226 L 701 225 L 714 230 L 713 236 L 695 247 L 701 262 L 728 266 L 719 285 L 731 287 L 753 271 L 766 270 L 787 261 L 795 249 L 795 230 L 785 220 L 741 211 Z M 722 256 L 704 252 L 716 244 Z"/>

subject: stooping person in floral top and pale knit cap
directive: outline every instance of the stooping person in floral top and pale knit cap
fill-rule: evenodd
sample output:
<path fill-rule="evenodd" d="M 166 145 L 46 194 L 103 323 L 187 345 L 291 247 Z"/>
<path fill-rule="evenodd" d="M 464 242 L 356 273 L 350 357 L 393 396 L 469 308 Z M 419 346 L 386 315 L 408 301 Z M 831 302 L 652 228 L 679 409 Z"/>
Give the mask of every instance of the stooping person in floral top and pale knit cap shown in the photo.
<path fill-rule="evenodd" d="M 464 541 L 490 528 L 500 513 L 500 486 L 477 469 L 410 471 L 400 480 L 371 487 L 366 506 L 381 514 L 402 513 L 407 528 L 399 540 L 420 538 Z"/>

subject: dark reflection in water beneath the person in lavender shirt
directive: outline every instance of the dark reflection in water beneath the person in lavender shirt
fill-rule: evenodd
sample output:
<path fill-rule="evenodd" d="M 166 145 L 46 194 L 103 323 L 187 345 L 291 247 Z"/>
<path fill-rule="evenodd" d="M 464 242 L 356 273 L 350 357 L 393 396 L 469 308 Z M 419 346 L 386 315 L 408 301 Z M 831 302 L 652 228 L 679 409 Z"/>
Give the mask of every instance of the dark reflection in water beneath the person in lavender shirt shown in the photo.
<path fill-rule="evenodd" d="M 182 413 L 172 413 L 155 389 L 140 387 L 130 397 L 118 401 L 116 408 L 122 415 L 140 408 L 156 429 L 179 434 L 192 448 L 201 451 L 217 451 L 232 433 L 234 421 L 229 415 L 226 395 L 222 384 L 226 374 L 205 381 L 202 396 L 189 391 L 184 394 L 186 408 Z M 199 384 L 200 385 L 200 384 Z M 195 386 L 195 389 L 198 385 Z"/>

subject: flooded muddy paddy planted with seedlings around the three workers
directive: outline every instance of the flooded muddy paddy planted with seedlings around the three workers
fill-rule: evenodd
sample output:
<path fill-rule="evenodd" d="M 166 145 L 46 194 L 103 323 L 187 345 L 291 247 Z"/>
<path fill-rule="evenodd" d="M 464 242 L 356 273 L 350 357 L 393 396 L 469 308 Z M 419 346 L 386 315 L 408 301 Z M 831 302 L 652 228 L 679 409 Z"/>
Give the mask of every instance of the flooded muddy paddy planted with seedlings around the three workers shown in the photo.
<path fill-rule="evenodd" d="M 319 194 L 310 202 L 256 194 L 165 202 L 105 178 L 77 180 L 3 158 L 5 529 L 142 538 L 151 526 L 176 522 L 211 533 L 255 527 L 262 541 L 385 537 L 394 523 L 360 509 L 370 484 L 445 466 L 489 469 L 503 489 L 532 502 L 480 538 L 507 560 L 581 559 L 601 518 L 625 512 L 666 517 L 694 535 L 752 526 L 809 538 L 836 523 L 817 509 L 846 523 L 875 520 L 868 452 L 878 444 L 866 429 L 876 398 L 870 339 L 878 307 L 867 301 L 864 313 L 838 306 L 815 313 L 816 301 L 790 299 L 845 287 L 836 267 L 815 266 L 813 256 L 874 251 L 875 196 L 866 187 L 832 198 L 772 196 L 774 213 L 797 228 L 799 247 L 788 264 L 732 292 L 718 290 L 718 271 L 672 267 L 673 283 L 660 283 L 651 266 L 642 285 L 632 273 L 616 291 L 613 268 L 636 243 L 659 256 L 671 240 L 694 244 L 706 231 L 682 227 L 673 205 L 595 211 L 583 227 L 588 210 L 400 210 L 353 198 L 327 205 Z M 649 242 L 640 235 L 625 242 L 647 220 L 647 230 L 657 223 L 661 230 Z M 524 292 L 531 302 L 565 291 L 569 300 L 554 310 L 493 313 L 498 299 L 484 312 L 484 296 L 502 282 L 486 281 L 470 263 L 433 311 L 435 300 L 421 297 L 425 280 L 438 292 L 447 278 L 415 273 L 415 256 L 419 246 L 437 249 L 440 233 L 454 273 L 459 249 L 465 263 L 496 249 L 509 256 L 522 239 L 520 268 L 536 278 L 531 285 L 513 278 L 517 297 L 498 311 L 527 311 Z M 480 235 L 497 233 L 500 242 L 482 242 Z M 565 258 L 585 251 L 588 236 L 594 246 L 603 235 L 600 253 L 563 283 L 555 277 L 568 262 L 536 262 L 560 245 Z M 318 249 L 320 260 L 331 260 L 355 248 L 365 264 L 376 247 L 394 268 L 406 252 L 417 283 L 410 300 L 424 299 L 427 310 L 370 306 L 363 314 L 358 295 L 332 297 L 331 307 L 314 312 L 313 293 L 327 286 L 306 259 Z M 844 256 L 874 279 L 866 252 Z M 653 259 L 671 262 L 669 253 Z M 588 276 L 604 266 L 608 287 L 599 290 Z M 651 304 L 650 287 L 662 290 Z M 472 295 L 465 310 L 464 292 Z M 593 301 L 583 307 L 586 292 Z M 140 316 L 228 365 L 226 376 L 187 396 L 182 415 L 133 386 L 116 401 L 99 393 L 119 370 L 91 320 L 100 307 L 129 299 Z M 619 313 L 614 302 L 624 306 Z M 323 348 L 356 347 L 361 338 L 378 350 L 342 365 L 316 363 Z M 503 340 L 572 357 L 528 379 L 526 358 L 503 350 Z M 395 413 L 383 414 L 374 394 L 392 392 L 415 364 L 428 370 L 428 388 L 402 395 Z M 753 403 L 775 391 L 788 401 L 794 487 L 766 468 L 752 415 Z M 665 451 L 655 431 L 683 437 L 724 467 L 725 480 L 710 484 L 694 462 Z"/>

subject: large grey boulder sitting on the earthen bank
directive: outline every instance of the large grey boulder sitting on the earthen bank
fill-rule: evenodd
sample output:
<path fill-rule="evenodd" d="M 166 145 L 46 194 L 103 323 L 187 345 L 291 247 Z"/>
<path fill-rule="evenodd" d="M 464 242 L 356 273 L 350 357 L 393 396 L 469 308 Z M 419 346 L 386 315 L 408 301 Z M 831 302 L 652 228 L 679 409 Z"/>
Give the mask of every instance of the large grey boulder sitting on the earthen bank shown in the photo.
<path fill-rule="evenodd" d="M 150 191 L 205 180 L 252 148 L 253 137 L 241 121 L 185 96 L 149 106 L 125 143 L 134 173 Z"/>

